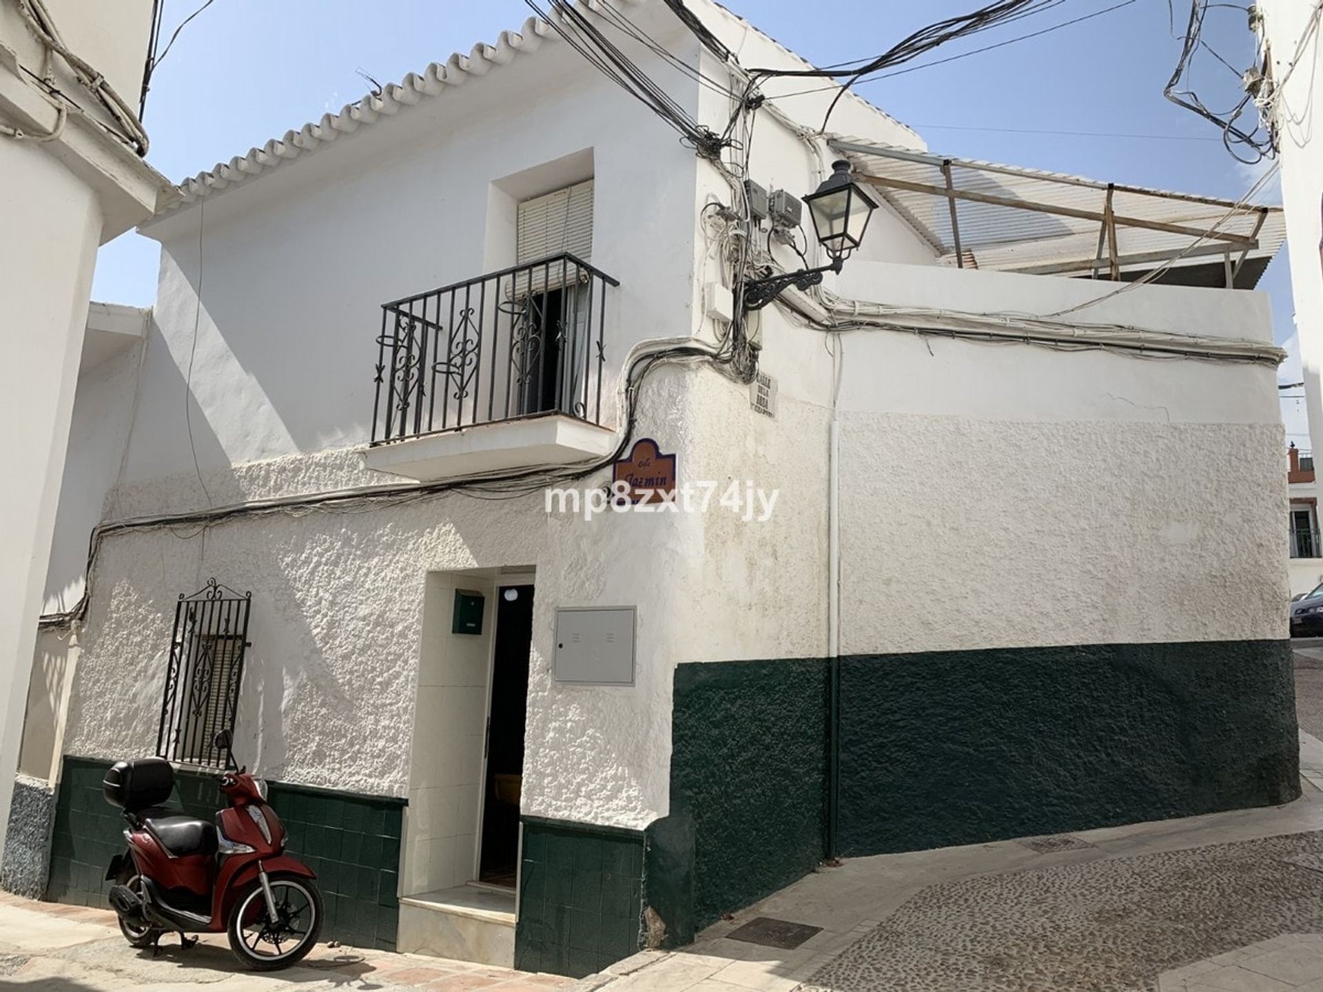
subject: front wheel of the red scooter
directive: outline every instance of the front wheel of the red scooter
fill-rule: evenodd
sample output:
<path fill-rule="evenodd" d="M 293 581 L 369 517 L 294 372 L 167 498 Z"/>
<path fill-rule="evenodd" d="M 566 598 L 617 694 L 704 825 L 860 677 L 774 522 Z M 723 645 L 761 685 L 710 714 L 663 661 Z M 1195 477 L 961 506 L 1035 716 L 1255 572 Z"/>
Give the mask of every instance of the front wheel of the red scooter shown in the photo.
<path fill-rule="evenodd" d="M 254 882 L 234 903 L 226 927 L 234 956 L 253 971 L 303 960 L 321 932 L 321 893 L 311 878 L 273 874 L 269 881 L 277 918 L 267 911 L 262 884 Z"/>

